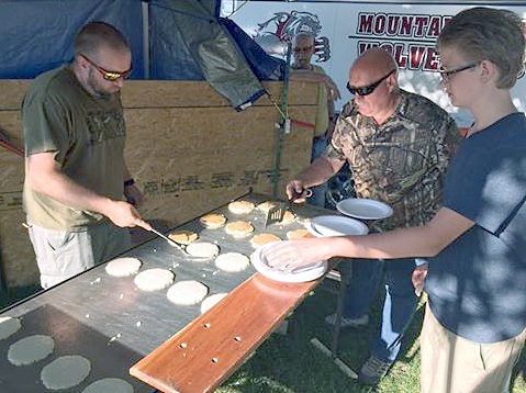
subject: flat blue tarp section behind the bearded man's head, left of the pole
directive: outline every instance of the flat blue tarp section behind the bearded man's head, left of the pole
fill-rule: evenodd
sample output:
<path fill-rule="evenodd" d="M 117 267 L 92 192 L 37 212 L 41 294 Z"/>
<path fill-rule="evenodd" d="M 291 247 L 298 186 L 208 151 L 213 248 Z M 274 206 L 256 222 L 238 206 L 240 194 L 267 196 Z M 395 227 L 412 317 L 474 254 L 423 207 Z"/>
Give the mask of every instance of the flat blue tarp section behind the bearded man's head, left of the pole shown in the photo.
<path fill-rule="evenodd" d="M 133 48 L 133 78 L 144 77 L 141 0 L 2 0 L 0 79 L 34 78 L 72 59 L 72 36 L 88 21 L 117 27 Z"/>

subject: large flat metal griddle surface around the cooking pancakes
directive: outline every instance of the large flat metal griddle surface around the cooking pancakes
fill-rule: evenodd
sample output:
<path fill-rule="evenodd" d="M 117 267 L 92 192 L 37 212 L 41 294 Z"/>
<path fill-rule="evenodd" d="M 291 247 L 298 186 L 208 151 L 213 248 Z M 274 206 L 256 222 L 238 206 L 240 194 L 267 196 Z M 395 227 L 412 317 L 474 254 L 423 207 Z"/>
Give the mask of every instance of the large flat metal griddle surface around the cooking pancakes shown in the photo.
<path fill-rule="evenodd" d="M 239 199 L 251 200 L 256 203 L 267 200 L 264 195 L 255 194 L 243 195 Z M 255 234 L 268 232 L 283 239 L 288 231 L 303 227 L 302 220 L 327 212 L 309 205 L 296 206 L 294 211 L 299 217 L 294 223 L 264 228 L 266 215 L 260 211 L 254 211 L 247 215 L 234 215 L 228 212 L 227 204 L 214 210 L 214 212 L 225 214 L 228 221 L 251 222 L 256 228 Z M 249 244 L 251 236 L 235 239 L 225 233 L 224 227 L 206 229 L 200 224 L 199 217 L 177 229 L 198 232 L 200 240 L 216 243 L 221 247 L 222 254 L 237 251 L 248 256 L 254 251 Z M 146 242 L 123 256 L 141 259 L 143 262 L 141 270 L 170 269 L 176 273 L 176 282 L 201 281 L 209 287 L 209 294 L 231 292 L 255 273 L 253 267 L 238 273 L 221 271 L 215 267 L 213 260 L 189 259 L 160 238 Z M 257 307 L 258 305 L 249 306 Z M 9 345 L 20 339 L 24 333 L 31 334 L 30 332 L 45 332 L 43 334 L 52 336 L 57 344 L 56 351 L 34 367 L 15 368 L 2 363 L 0 367 L 0 391 L 3 391 L 3 386 L 15 385 L 22 375 L 34 382 L 24 392 L 43 391 L 42 384 L 35 380 L 40 374 L 38 367 L 42 368 L 64 352 L 86 356 L 92 364 L 96 364 L 92 373 L 80 388 L 76 388 L 76 391 L 86 388 L 97 379 L 114 377 L 126 379 L 133 383 L 136 392 L 149 392 L 152 388 L 130 377 L 127 370 L 138 358 L 152 352 L 198 318 L 200 305 L 175 305 L 167 300 L 166 290 L 149 293 L 138 291 L 133 283 L 133 277 L 110 277 L 102 265 L 3 310 L 0 316 L 20 317 L 23 326 L 20 334 L 0 341 L 2 353 L 7 352 Z M 52 323 L 54 319 L 61 321 L 61 323 Z M 77 335 L 76 332 L 82 332 L 82 334 Z M 78 337 L 78 339 L 66 339 L 67 337 Z M 91 341 L 93 345 L 88 345 L 88 348 L 87 343 Z M 99 368 L 99 364 L 111 362 L 115 364 L 113 369 L 109 369 L 109 372 L 104 373 Z"/>

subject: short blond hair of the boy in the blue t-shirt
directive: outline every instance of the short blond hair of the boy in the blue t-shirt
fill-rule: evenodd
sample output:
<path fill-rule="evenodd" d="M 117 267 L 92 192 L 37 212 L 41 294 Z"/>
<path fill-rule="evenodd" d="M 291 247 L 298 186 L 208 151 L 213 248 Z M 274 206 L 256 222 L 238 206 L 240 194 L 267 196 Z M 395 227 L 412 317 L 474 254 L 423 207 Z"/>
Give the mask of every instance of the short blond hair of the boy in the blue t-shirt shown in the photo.
<path fill-rule="evenodd" d="M 445 46 L 458 48 L 472 61 L 488 59 L 496 65 L 500 89 L 511 89 L 524 67 L 522 21 L 508 10 L 475 7 L 459 12 L 438 36 L 438 52 Z"/>

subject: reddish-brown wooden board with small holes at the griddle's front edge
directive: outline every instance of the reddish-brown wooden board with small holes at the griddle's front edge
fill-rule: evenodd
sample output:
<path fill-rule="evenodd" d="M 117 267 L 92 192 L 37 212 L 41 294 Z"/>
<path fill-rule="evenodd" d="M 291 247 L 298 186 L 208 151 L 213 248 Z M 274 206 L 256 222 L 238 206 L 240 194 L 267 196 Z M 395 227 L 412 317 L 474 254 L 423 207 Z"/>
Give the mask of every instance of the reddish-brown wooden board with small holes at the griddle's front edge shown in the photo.
<path fill-rule="evenodd" d="M 256 273 L 130 373 L 163 392 L 212 392 L 321 280 L 283 283 Z"/>

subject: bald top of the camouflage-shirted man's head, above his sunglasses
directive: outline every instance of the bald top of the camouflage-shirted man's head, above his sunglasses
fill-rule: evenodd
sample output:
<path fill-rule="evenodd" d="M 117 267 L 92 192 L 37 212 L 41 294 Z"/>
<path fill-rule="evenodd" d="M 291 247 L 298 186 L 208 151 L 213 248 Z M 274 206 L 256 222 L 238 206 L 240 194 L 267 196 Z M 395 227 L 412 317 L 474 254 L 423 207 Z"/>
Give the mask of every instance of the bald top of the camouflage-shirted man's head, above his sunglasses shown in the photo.
<path fill-rule="evenodd" d="M 396 61 L 389 52 L 373 47 L 363 52 L 350 67 L 352 86 L 367 86 L 396 69 Z"/>

